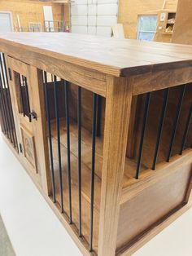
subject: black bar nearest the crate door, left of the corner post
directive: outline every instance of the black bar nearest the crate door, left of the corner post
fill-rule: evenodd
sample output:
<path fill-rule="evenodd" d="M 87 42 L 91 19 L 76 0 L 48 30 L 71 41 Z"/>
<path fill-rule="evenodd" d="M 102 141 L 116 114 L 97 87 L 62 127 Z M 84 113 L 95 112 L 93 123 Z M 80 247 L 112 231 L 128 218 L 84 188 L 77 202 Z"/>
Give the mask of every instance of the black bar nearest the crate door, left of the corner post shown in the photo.
<path fill-rule="evenodd" d="M 46 119 L 47 119 L 49 145 L 50 145 L 50 174 L 51 174 L 53 201 L 55 203 L 56 199 L 55 199 L 54 157 L 53 157 L 51 126 L 50 126 L 50 97 L 47 89 L 47 74 L 45 71 L 44 71 L 44 89 L 45 89 L 45 96 L 46 96 Z"/>

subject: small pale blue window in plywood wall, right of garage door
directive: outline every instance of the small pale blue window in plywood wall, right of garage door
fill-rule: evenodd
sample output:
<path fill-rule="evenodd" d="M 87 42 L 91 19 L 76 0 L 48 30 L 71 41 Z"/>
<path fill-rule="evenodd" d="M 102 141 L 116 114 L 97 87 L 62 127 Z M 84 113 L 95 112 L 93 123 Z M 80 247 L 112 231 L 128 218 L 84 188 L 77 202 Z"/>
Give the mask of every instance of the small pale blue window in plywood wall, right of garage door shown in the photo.
<path fill-rule="evenodd" d="M 152 41 L 157 27 L 157 15 L 140 15 L 138 19 L 137 39 Z"/>

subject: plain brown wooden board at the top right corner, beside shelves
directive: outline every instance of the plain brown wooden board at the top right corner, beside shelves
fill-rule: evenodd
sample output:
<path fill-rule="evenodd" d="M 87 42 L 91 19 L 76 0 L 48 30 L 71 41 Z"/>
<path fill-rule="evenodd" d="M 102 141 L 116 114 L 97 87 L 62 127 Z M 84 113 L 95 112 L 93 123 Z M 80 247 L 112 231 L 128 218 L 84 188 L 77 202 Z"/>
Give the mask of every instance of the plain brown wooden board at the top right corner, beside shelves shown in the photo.
<path fill-rule="evenodd" d="M 192 44 L 192 1 L 178 0 L 172 42 Z"/>

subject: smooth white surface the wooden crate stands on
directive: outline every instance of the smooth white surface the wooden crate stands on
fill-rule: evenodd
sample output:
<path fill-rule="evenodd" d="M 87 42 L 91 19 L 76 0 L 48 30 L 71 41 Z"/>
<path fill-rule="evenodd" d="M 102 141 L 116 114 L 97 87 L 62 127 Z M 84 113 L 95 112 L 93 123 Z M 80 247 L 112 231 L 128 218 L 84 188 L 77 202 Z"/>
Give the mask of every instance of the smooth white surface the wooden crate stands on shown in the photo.
<path fill-rule="evenodd" d="M 2 140 L 1 134 L 0 214 L 17 256 L 81 255 L 59 219 Z M 191 255 L 192 210 L 183 214 L 134 254 L 134 256 Z"/>

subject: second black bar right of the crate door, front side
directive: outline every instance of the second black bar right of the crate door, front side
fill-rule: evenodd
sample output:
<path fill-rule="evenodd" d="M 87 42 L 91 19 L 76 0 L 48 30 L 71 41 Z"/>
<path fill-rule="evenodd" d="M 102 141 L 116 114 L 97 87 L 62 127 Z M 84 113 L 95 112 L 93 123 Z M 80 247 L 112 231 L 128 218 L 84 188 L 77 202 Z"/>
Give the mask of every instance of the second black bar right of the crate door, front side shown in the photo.
<path fill-rule="evenodd" d="M 60 121 L 59 121 L 59 106 L 58 106 L 58 85 L 57 77 L 54 76 L 54 95 L 55 95 L 55 117 L 57 126 L 57 144 L 58 144 L 58 158 L 59 158 L 59 187 L 61 196 L 61 212 L 63 213 L 63 180 L 62 180 L 62 166 L 61 166 L 61 148 L 60 148 Z"/>

